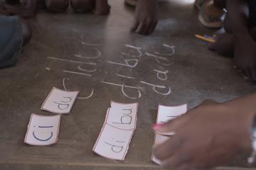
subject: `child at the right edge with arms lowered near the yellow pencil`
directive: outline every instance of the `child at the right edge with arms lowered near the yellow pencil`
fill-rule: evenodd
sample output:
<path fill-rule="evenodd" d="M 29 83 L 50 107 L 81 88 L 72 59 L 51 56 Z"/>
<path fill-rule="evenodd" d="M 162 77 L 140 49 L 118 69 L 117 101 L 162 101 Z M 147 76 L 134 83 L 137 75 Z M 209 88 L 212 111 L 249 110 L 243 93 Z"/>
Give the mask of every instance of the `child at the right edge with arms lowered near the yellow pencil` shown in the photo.
<path fill-rule="evenodd" d="M 256 80 L 256 1 L 227 0 L 223 34 L 209 49 L 233 56 L 235 64 L 247 77 Z"/>

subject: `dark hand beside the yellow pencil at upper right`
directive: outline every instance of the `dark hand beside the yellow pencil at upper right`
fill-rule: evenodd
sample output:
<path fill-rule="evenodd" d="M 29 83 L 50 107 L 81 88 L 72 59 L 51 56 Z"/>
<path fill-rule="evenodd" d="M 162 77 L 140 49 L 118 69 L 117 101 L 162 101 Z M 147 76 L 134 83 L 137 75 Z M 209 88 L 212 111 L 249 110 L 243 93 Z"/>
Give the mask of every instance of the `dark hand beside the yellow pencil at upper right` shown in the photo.
<path fill-rule="evenodd" d="M 210 44 L 210 46 L 208 47 L 209 50 L 217 52 L 220 55 L 233 57 L 235 46 L 235 37 L 233 34 L 223 33 L 217 35 L 215 40 L 216 42 Z"/>

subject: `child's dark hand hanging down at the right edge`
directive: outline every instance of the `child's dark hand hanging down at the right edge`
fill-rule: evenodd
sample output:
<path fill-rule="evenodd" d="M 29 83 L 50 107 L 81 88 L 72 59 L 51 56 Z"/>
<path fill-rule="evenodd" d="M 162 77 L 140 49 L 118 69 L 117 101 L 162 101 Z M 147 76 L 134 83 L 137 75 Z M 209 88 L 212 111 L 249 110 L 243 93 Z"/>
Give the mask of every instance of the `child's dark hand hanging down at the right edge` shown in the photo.
<path fill-rule="evenodd" d="M 256 80 L 256 42 L 247 33 L 235 36 L 235 64 L 251 80 Z"/>

